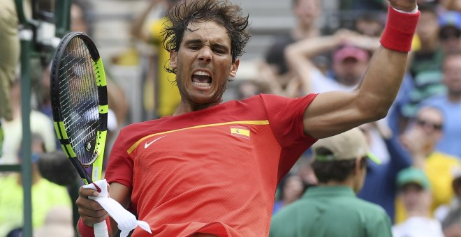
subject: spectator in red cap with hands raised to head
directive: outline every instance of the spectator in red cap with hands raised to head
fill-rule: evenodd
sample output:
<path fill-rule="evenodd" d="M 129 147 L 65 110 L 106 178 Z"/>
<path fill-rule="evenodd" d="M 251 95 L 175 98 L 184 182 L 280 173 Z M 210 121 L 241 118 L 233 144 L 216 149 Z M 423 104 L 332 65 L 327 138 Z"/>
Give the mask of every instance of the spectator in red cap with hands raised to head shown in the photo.
<path fill-rule="evenodd" d="M 319 36 L 300 40 L 286 48 L 286 59 L 291 70 L 301 81 L 303 94 L 325 91 L 352 91 L 362 79 L 370 56 L 379 40 L 348 30 L 337 31 L 332 36 Z M 366 48 L 366 49 L 365 49 Z M 332 71 L 324 75 L 314 63 L 315 55 L 332 51 Z M 374 131 L 371 150 L 381 160 L 389 160 L 383 139 Z"/>

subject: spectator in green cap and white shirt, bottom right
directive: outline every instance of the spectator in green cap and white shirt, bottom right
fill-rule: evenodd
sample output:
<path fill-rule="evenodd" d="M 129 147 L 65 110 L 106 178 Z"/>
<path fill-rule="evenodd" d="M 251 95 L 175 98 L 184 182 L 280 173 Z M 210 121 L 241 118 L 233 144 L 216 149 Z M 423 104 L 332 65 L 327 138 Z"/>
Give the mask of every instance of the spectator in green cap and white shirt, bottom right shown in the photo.
<path fill-rule="evenodd" d="M 432 194 L 424 171 L 415 167 L 400 171 L 397 186 L 408 216 L 393 227 L 393 236 L 443 237 L 440 222 L 430 214 Z"/>

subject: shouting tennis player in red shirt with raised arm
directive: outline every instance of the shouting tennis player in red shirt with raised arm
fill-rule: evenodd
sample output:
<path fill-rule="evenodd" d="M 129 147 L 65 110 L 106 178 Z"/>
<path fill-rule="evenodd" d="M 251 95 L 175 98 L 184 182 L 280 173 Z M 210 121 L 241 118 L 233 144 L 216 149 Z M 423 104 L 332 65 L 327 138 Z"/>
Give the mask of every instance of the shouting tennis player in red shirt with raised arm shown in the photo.
<path fill-rule="evenodd" d="M 317 139 L 386 116 L 419 15 L 416 0 L 390 1 L 382 46 L 354 91 L 221 102 L 250 38 L 248 17 L 226 0 L 182 1 L 168 12 L 165 37 L 180 105 L 122 129 L 105 173 L 110 197 L 154 236 L 268 236 L 277 183 L 300 155 Z M 108 214 L 88 199 L 94 190 L 79 195 L 78 228 L 91 236 Z"/>

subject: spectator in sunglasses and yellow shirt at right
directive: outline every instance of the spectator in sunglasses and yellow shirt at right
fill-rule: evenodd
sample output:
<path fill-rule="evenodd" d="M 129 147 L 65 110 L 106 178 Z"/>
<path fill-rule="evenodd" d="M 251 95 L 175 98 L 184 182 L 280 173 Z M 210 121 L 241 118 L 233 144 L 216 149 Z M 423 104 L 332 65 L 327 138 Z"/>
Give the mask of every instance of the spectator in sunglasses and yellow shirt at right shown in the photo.
<path fill-rule="evenodd" d="M 452 170 L 460 165 L 458 158 L 441 153 L 435 149 L 443 136 L 444 116 L 435 107 L 421 107 L 401 139 L 402 144 L 411 153 L 414 167 L 423 169 L 430 181 L 432 205 L 430 215 L 442 204 L 450 204 L 453 199 Z M 400 199 L 397 200 L 396 223 L 407 219 L 407 213 Z"/>

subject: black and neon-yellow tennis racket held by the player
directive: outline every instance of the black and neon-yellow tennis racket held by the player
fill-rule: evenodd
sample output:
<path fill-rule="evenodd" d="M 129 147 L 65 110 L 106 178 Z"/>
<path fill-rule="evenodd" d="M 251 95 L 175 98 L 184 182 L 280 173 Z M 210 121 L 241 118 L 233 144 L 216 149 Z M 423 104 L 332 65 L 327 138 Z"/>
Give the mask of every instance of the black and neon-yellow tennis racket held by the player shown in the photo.
<path fill-rule="evenodd" d="M 101 179 L 109 107 L 103 61 L 89 36 L 71 32 L 61 39 L 50 79 L 54 129 L 61 147 L 83 183 L 93 183 Z M 92 167 L 92 176 L 87 167 Z M 94 234 L 108 236 L 105 221 L 94 224 Z"/>

